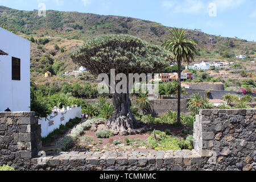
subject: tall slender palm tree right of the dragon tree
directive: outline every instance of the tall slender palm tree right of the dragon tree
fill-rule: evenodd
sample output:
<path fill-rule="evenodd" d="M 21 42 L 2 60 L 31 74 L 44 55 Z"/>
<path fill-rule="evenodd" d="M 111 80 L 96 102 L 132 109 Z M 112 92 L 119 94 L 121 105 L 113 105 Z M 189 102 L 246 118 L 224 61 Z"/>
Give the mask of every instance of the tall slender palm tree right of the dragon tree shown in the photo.
<path fill-rule="evenodd" d="M 196 43 L 193 40 L 189 40 L 188 36 L 185 36 L 186 31 L 183 28 L 172 28 L 170 31 L 171 38 L 167 39 L 163 43 L 163 47 L 174 54 L 175 60 L 178 65 L 178 103 L 177 103 L 177 121 L 180 123 L 180 90 L 181 90 L 181 61 L 189 63 L 193 61 L 196 55 Z"/>

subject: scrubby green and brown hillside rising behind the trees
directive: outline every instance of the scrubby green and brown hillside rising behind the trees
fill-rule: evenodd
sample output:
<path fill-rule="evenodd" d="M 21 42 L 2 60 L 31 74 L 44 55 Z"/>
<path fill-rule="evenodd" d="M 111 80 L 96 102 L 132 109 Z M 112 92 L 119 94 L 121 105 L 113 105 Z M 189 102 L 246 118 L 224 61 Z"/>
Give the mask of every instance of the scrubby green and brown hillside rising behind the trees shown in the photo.
<path fill-rule="evenodd" d="M 0 26 L 31 40 L 31 80 L 40 84 L 75 82 L 73 76 L 63 76 L 63 72 L 78 68 L 69 55 L 89 38 L 104 34 L 129 34 L 161 45 L 171 29 L 160 23 L 122 16 L 49 10 L 46 17 L 39 17 L 36 10 L 20 11 L 4 6 L 0 6 Z M 230 60 L 236 55 L 256 53 L 255 42 L 193 30 L 188 30 L 187 34 L 198 44 L 197 60 Z M 44 78 L 46 71 L 55 76 Z M 90 78 L 93 77 L 87 72 L 80 75 L 81 82 Z"/>

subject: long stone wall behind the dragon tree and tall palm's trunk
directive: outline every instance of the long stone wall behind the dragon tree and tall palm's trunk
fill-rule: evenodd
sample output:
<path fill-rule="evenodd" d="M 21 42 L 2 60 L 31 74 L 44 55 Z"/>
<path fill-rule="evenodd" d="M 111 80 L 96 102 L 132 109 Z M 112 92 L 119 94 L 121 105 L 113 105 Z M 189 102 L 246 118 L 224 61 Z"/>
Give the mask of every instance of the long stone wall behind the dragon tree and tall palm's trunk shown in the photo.
<path fill-rule="evenodd" d="M 84 100 L 85 102 L 96 104 L 98 100 Z M 132 104 L 136 105 L 134 99 L 131 99 Z M 180 110 L 183 113 L 187 113 L 187 99 L 180 101 Z M 107 100 L 107 103 L 112 104 L 112 100 Z M 151 100 L 151 108 L 154 110 L 156 115 L 164 115 L 168 110 L 177 111 L 177 100 L 176 99 L 154 99 Z"/>

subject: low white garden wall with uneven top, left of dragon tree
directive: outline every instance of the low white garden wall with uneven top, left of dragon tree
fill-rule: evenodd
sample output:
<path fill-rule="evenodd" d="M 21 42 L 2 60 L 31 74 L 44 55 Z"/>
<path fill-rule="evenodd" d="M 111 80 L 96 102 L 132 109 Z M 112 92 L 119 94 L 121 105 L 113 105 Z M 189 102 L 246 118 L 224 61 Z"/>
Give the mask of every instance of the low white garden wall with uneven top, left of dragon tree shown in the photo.
<path fill-rule="evenodd" d="M 52 114 L 46 118 L 40 118 L 39 123 L 41 124 L 42 137 L 47 137 L 55 129 L 59 129 L 60 125 L 65 125 L 69 122 L 69 119 L 81 118 L 81 106 L 72 106 L 63 109 L 54 107 Z"/>

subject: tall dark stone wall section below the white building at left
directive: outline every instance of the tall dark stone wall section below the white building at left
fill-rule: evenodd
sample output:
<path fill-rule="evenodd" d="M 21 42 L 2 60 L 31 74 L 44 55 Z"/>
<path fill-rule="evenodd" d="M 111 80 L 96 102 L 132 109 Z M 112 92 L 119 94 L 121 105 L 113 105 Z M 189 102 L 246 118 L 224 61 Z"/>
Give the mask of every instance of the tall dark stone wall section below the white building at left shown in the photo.
<path fill-rule="evenodd" d="M 34 112 L 0 113 L 0 166 L 22 170 L 41 147 L 41 127 Z"/>

